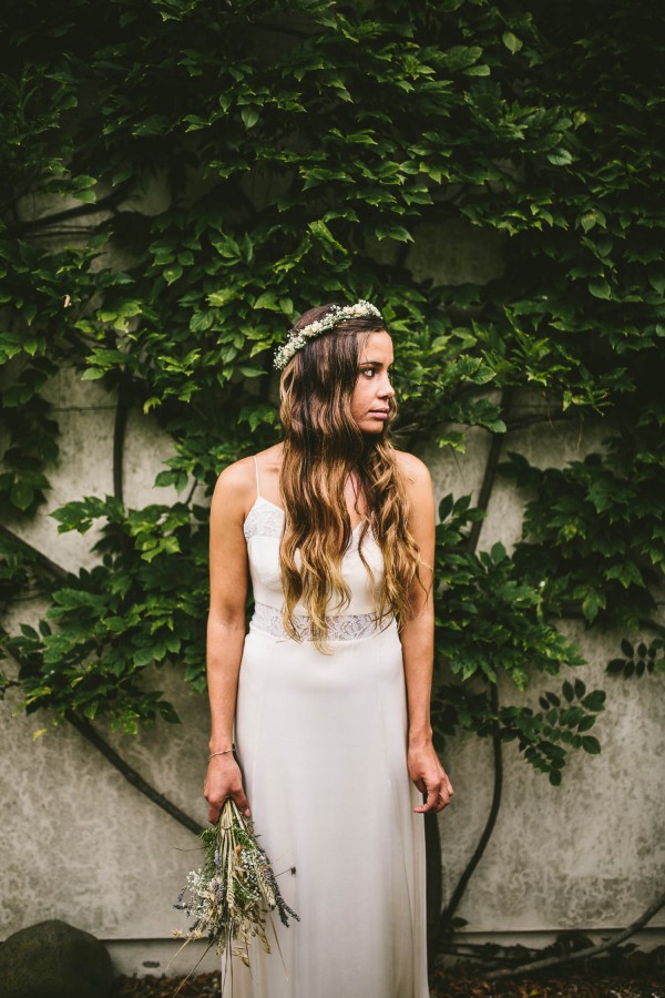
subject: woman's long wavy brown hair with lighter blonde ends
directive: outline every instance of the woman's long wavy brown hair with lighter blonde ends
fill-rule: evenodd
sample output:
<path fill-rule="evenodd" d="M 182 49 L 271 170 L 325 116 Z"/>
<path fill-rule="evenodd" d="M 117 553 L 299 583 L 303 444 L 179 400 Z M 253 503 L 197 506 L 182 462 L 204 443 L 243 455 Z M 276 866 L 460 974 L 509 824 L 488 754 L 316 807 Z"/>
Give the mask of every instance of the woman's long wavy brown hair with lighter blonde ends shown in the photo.
<path fill-rule="evenodd" d="M 310 308 L 294 329 L 323 318 L 330 307 Z M 369 516 L 360 527 L 359 554 L 372 592 L 374 573 L 362 553 L 370 525 L 383 556 L 385 577 L 375 600 L 379 624 L 395 614 L 402 625 L 411 615 L 413 580 L 424 590 L 420 550 L 407 525 L 405 482 L 388 438 L 395 400 L 390 399 L 388 420 L 376 436 L 365 435 L 351 416 L 359 358 L 374 332 L 388 329 L 381 319 L 364 316 L 308 340 L 284 369 L 279 387 L 284 428 L 279 491 L 286 511 L 279 548 L 284 628 L 301 640 L 294 620 L 294 609 L 301 601 L 309 618 L 309 639 L 323 652 L 328 651 L 328 612 L 344 611 L 351 597 L 341 560 L 352 537 L 345 501 L 345 483 L 352 472 Z"/>

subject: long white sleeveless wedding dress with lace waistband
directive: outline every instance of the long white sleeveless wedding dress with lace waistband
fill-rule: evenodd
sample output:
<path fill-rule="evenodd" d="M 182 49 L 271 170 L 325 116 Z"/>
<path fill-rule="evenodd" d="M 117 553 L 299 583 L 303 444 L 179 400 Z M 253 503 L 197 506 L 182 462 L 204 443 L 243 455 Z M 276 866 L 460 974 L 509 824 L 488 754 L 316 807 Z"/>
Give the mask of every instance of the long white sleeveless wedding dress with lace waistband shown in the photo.
<path fill-rule="evenodd" d="M 255 832 L 300 921 L 285 928 L 273 913 L 279 945 L 268 931 L 272 953 L 253 941 L 250 969 L 237 958 L 225 965 L 223 996 L 428 998 L 423 818 L 407 772 L 397 625 L 375 621 L 358 526 L 342 561 L 351 603 L 332 621 L 332 653 L 285 634 L 284 511 L 260 496 L 256 470 L 244 527 L 255 611 L 235 739 Z M 371 531 L 362 552 L 378 585 Z"/>

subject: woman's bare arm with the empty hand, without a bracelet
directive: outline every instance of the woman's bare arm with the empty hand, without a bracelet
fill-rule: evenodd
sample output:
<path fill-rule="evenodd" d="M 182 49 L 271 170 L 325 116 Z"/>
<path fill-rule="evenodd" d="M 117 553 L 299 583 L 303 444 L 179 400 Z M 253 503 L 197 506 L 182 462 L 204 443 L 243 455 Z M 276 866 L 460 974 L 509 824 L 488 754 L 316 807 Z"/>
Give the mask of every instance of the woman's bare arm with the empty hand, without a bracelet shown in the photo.
<path fill-rule="evenodd" d="M 430 694 L 434 659 L 434 495 L 427 466 L 410 454 L 399 454 L 409 500 L 409 531 L 420 548 L 420 582 L 409 591 L 411 612 L 400 631 L 409 710 L 408 765 L 424 804 L 413 811 L 442 811 L 452 786 L 432 743 Z M 422 584 L 420 584 L 422 583 Z"/>

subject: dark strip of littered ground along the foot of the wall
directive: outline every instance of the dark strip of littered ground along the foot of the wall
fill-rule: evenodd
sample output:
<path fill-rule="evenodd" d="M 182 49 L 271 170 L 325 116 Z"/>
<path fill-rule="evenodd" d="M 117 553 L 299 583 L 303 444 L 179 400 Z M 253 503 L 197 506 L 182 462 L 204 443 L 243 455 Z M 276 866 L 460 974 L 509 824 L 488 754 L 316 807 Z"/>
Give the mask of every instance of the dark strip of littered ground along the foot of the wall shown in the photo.
<path fill-rule="evenodd" d="M 113 998 L 173 998 L 182 978 L 119 977 Z M 563 976 L 540 980 L 505 980 L 490 984 L 467 968 L 437 971 L 430 981 L 431 998 L 665 998 L 663 969 L 642 969 L 632 976 L 590 975 L 571 970 Z M 192 976 L 178 991 L 178 998 L 218 998 L 218 974 Z"/>

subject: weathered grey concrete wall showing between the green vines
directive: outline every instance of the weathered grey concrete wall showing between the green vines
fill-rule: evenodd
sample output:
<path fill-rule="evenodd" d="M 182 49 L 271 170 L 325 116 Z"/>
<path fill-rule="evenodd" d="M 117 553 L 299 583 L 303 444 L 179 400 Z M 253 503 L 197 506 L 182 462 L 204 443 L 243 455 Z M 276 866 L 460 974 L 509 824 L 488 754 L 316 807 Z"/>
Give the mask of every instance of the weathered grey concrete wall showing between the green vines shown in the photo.
<path fill-rule="evenodd" d="M 462 279 L 475 259 L 473 241 L 457 230 L 448 235 L 454 240 L 443 233 L 433 242 L 434 249 L 440 247 L 437 273 L 447 276 L 450 268 L 448 276 Z M 498 272 L 499 248 L 484 244 L 485 274 Z M 431 254 L 420 253 L 413 268 L 431 268 Z M 112 489 L 113 399 L 94 384 L 81 383 L 71 370 L 63 370 L 50 390 L 62 438 L 48 510 L 74 496 L 101 496 Z M 522 398 L 516 405 L 529 407 L 533 401 Z M 485 434 L 474 431 L 463 457 L 442 457 L 438 450 L 423 455 L 439 497 L 478 488 L 488 444 Z M 540 424 L 511 438 L 511 448 L 541 465 L 561 465 L 597 445 L 593 427 Z M 168 454 L 170 441 L 154 421 L 133 411 L 125 459 L 130 506 L 168 498 L 167 490 L 152 488 Z M 501 539 L 510 548 L 520 521 L 520 501 L 512 486 L 500 480 L 481 547 Z M 90 563 L 90 534 L 59 536 L 47 515 L 29 526 L 8 526 L 64 568 Z M 20 603 L 12 614 L 14 621 L 30 621 L 40 609 L 37 602 Z M 513 744 L 504 746 L 505 791 L 498 826 L 459 912 L 477 938 L 533 934 L 542 941 L 565 928 L 610 929 L 633 920 L 662 889 L 663 678 L 627 683 L 608 678 L 604 663 L 616 653 L 623 635 L 608 632 L 590 639 L 575 631 L 575 637 L 593 662 L 584 672 L 587 686 L 597 683 L 608 691 L 607 710 L 594 730 L 603 754 L 573 757 L 563 786 L 553 788 L 518 757 Z M 162 670 L 154 681 L 176 704 L 183 725 L 157 724 L 137 736 L 109 733 L 109 741 L 203 824 L 205 699 L 185 689 L 176 669 Z M 508 690 L 504 694 L 516 696 Z M 524 696 L 529 700 L 532 694 L 528 691 Z M 25 717 L 11 696 L 0 703 L 4 838 L 0 936 L 43 918 L 64 918 L 108 941 L 117 969 L 161 972 L 177 948 L 170 941 L 171 931 L 184 925 L 172 905 L 186 872 L 197 865 L 197 854 L 191 852 L 196 841 L 137 794 L 66 724 L 33 742 L 32 732 L 44 722 L 48 719 L 39 714 Z M 448 895 L 488 813 L 490 745 L 460 737 L 444 761 L 456 786 L 454 803 L 440 817 Z M 658 925 L 665 928 L 665 917 L 654 921 L 645 938 L 655 938 Z M 190 955 L 183 956 L 171 971 L 192 964 Z M 214 965 L 208 958 L 203 966 Z"/>

